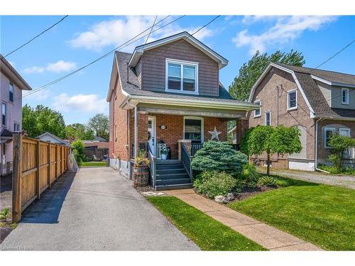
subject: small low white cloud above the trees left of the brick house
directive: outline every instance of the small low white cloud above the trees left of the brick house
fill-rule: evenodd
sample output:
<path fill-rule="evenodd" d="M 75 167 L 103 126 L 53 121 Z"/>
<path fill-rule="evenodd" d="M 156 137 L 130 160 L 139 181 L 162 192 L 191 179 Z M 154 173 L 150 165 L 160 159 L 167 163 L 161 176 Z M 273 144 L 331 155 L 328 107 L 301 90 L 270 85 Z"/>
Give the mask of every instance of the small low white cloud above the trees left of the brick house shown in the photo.
<path fill-rule="evenodd" d="M 99 98 L 97 94 L 77 94 L 69 96 L 60 94 L 55 96 L 51 104 L 53 109 L 57 111 L 80 111 L 80 112 L 97 112 L 106 111 L 108 104 L 104 98 Z"/>

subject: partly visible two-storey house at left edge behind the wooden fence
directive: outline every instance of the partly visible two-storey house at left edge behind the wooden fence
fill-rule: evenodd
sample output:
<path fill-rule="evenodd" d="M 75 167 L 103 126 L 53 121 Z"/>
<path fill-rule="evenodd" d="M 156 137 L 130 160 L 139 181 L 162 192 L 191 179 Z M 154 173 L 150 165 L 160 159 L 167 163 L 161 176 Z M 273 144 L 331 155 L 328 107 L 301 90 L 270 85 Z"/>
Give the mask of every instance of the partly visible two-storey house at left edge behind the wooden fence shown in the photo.
<path fill-rule="evenodd" d="M 12 133 L 22 129 L 22 90 L 31 87 L 0 55 L 0 175 L 12 172 Z"/>

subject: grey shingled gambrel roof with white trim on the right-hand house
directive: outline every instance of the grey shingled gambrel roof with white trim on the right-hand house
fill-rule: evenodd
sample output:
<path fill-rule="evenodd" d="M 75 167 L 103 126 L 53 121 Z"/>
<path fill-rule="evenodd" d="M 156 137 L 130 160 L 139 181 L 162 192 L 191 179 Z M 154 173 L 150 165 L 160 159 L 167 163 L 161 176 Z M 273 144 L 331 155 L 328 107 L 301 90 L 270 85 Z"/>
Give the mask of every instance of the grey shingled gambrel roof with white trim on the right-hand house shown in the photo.
<path fill-rule="evenodd" d="M 249 95 L 249 101 L 253 99 L 253 94 L 256 87 L 260 84 L 261 80 L 271 67 L 277 67 L 280 70 L 289 72 L 292 74 L 295 83 L 297 84 L 298 89 L 305 99 L 305 102 L 310 109 L 310 117 L 322 117 L 322 118 L 331 118 L 331 119 L 344 119 L 344 118 L 355 118 L 355 110 L 351 109 L 340 109 L 340 108 L 331 108 L 327 103 L 327 100 L 324 98 L 324 95 L 320 91 L 320 87 L 317 85 L 316 80 L 319 80 L 315 77 L 320 77 L 325 79 L 332 84 L 343 84 L 343 85 L 355 85 L 355 76 L 351 74 L 344 74 L 339 72 L 332 72 L 327 70 L 313 70 L 307 67 L 295 67 L 285 64 L 276 64 L 269 63 L 268 67 L 263 71 L 263 74 L 258 78 L 256 83 L 251 89 L 251 94 Z M 315 76 L 316 74 L 317 76 Z M 347 83 L 343 83 L 347 82 Z"/>

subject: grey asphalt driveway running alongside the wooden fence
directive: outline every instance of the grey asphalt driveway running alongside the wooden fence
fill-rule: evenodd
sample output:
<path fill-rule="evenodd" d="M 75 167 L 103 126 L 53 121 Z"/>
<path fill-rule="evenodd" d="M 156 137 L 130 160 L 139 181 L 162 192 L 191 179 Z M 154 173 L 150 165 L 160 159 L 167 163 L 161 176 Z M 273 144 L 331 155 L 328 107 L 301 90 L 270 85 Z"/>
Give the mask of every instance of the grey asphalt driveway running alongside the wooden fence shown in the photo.
<path fill-rule="evenodd" d="M 67 172 L 23 212 L 0 250 L 198 250 L 109 167 Z"/>

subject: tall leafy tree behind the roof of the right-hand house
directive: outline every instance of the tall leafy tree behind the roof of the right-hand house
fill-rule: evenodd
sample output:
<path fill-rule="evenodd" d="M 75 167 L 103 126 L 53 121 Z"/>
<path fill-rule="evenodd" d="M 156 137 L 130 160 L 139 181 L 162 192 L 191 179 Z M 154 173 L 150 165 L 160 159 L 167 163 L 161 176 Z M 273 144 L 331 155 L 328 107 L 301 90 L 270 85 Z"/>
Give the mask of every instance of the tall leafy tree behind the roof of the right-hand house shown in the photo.
<path fill-rule="evenodd" d="M 278 50 L 271 55 L 268 55 L 267 52 L 261 55 L 259 51 L 256 51 L 256 54 L 251 57 L 251 60 L 244 63 L 239 69 L 238 76 L 234 78 L 234 82 L 229 86 L 229 94 L 236 100 L 247 100 L 251 87 L 253 87 L 258 77 L 261 76 L 269 62 L 295 65 L 298 67 L 302 67 L 302 65 L 305 64 L 302 52 L 294 50 L 281 52 Z"/>

